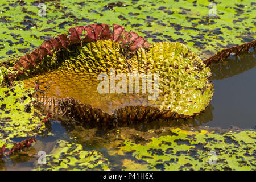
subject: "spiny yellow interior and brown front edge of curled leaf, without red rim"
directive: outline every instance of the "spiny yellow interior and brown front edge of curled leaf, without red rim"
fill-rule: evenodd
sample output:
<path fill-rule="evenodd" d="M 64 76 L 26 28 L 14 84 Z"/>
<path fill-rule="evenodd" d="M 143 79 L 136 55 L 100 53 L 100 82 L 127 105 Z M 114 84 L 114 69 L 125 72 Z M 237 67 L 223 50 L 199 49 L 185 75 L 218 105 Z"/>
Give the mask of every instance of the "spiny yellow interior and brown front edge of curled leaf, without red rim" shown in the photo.
<path fill-rule="evenodd" d="M 187 118 L 199 114 L 212 100 L 213 84 L 208 80 L 212 75 L 210 69 L 199 56 L 179 42 L 154 43 L 148 49 L 139 48 L 137 53 L 127 55 L 122 52 L 121 44 L 112 40 L 83 43 L 82 47 L 72 46 L 69 49 L 70 51 L 63 50 L 52 56 L 48 55 L 37 69 L 28 70 L 29 75 L 34 75 L 31 72 L 37 73 L 40 68 L 45 67 L 48 72 L 37 73 L 36 76 L 23 80 L 27 88 L 32 87 L 35 80 L 49 82 L 51 89 L 43 96 L 36 96 L 36 99 L 44 113 L 53 113 L 56 118 L 78 118 L 82 122 L 93 118 L 99 123 L 112 124 L 115 110 L 118 121 L 123 123 L 130 118 L 130 121 L 152 119 L 154 115 L 156 118 L 159 115 L 171 119 Z M 51 70 L 53 66 L 47 66 L 48 63 L 55 63 L 56 68 Z M 147 87 L 147 94 L 133 94 L 133 97 L 129 97 L 127 88 L 126 93 L 122 94 L 100 94 L 97 75 L 109 74 L 110 69 L 114 69 L 116 74 L 123 73 L 127 81 L 130 80 L 130 73 L 137 74 L 147 84 L 149 79 L 146 76 L 152 74 L 151 77 L 155 77 L 154 74 L 158 74 L 156 77 L 159 77 L 159 85 L 155 85 L 156 80 L 152 78 L 153 93 L 148 93 Z M 130 82 L 126 87 L 127 85 L 130 89 Z M 139 92 L 142 93 L 141 90 Z M 70 97 L 75 101 L 67 101 Z M 125 102 L 127 104 L 122 105 Z M 111 110 L 108 108 L 110 105 L 114 107 Z M 137 111 L 133 108 L 131 111 L 123 111 L 127 109 L 126 106 L 135 106 Z M 92 108 L 101 110 L 92 111 Z M 142 114 L 135 114 L 139 112 Z"/>

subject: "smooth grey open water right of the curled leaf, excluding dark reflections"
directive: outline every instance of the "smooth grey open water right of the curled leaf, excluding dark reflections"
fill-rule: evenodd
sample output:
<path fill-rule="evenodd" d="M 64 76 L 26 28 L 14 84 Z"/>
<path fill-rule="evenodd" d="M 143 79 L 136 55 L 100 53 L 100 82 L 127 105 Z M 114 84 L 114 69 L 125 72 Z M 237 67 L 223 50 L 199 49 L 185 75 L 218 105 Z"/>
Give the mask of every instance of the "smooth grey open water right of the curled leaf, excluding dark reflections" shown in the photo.
<path fill-rule="evenodd" d="M 207 123 L 208 126 L 224 128 L 231 125 L 243 128 L 255 126 L 256 86 L 251 80 L 255 78 L 255 71 L 254 68 L 226 80 L 213 80 L 214 119 Z"/>

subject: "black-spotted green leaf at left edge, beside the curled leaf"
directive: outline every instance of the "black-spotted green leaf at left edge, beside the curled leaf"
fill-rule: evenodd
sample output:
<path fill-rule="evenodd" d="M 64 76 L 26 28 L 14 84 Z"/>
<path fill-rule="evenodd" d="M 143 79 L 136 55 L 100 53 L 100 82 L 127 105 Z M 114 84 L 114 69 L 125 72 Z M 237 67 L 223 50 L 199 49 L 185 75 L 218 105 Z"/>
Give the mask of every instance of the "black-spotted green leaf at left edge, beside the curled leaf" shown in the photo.
<path fill-rule="evenodd" d="M 24 89 L 23 82 L 14 82 L 11 88 L 0 88 L 0 147 L 13 147 L 15 137 L 32 137 L 41 118 L 35 116 L 32 89 Z"/>

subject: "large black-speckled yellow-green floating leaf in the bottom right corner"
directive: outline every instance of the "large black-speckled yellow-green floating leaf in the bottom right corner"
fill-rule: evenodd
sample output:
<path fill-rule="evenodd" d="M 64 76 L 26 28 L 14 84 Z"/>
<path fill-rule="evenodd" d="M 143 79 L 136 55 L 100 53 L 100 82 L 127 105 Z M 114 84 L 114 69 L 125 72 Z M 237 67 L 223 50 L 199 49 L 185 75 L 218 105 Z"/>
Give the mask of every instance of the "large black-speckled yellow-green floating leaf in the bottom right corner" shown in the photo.
<path fill-rule="evenodd" d="M 170 135 L 153 137 L 144 145 L 126 140 L 120 149 L 133 152 L 134 159 L 123 160 L 126 170 L 255 170 L 255 131 L 172 129 Z"/>

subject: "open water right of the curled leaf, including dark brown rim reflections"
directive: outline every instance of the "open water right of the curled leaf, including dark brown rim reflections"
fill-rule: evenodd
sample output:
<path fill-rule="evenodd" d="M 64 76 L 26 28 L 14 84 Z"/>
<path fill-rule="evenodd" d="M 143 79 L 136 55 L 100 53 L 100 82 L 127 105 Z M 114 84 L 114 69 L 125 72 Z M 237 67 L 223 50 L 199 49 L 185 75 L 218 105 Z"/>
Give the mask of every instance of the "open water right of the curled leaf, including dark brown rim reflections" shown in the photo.
<path fill-rule="evenodd" d="M 195 120 L 203 126 L 210 121 L 206 124 L 210 127 L 253 129 L 256 125 L 255 65 L 256 50 L 253 49 L 240 57 L 210 65 L 213 73 L 210 80 L 214 84 L 212 105 Z"/>

